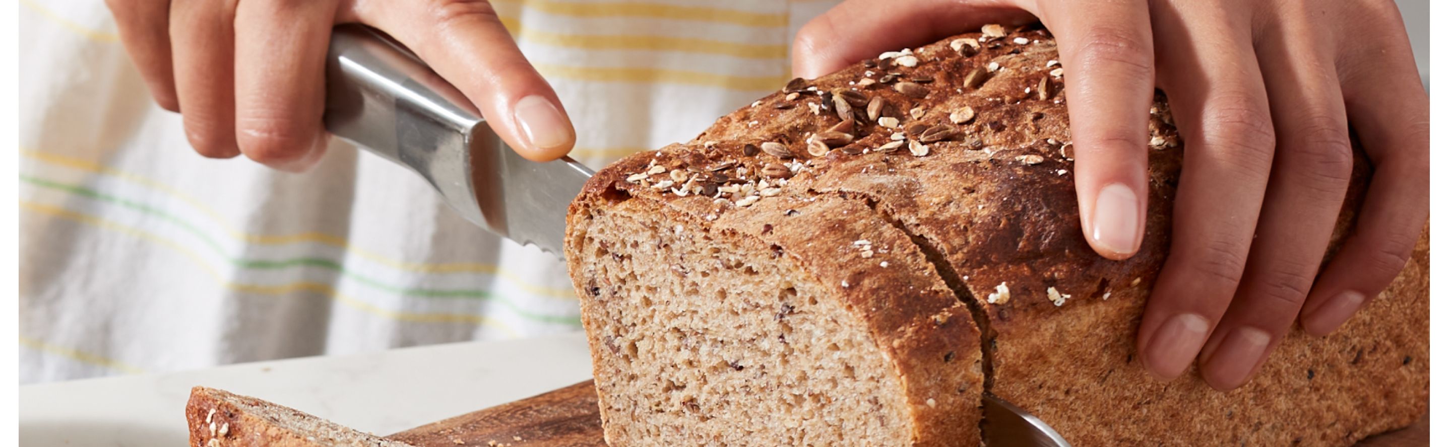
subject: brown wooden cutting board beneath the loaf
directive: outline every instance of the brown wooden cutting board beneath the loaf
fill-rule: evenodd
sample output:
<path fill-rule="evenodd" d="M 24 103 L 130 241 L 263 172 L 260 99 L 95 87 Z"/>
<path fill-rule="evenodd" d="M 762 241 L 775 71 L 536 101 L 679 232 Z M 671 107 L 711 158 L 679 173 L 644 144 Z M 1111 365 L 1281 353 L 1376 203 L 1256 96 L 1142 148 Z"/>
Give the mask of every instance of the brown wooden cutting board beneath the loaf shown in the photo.
<path fill-rule="evenodd" d="M 593 380 L 442 420 L 390 438 L 417 447 L 606 447 Z M 1429 446 L 1429 414 L 1407 428 L 1369 437 L 1358 446 Z"/>

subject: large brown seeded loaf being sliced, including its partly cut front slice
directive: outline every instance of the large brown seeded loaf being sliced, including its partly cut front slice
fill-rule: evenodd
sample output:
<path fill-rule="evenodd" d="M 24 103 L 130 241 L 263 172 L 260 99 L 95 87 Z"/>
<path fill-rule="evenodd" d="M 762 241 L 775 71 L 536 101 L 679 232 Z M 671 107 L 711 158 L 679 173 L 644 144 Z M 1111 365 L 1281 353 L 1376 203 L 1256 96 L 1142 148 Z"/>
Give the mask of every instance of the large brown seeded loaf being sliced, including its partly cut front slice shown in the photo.
<path fill-rule="evenodd" d="M 1159 94 L 1146 239 L 1097 256 L 1061 74 L 1039 26 L 987 26 L 600 171 L 567 257 L 607 441 L 977 446 L 982 393 L 1075 446 L 1349 446 L 1427 409 L 1427 233 L 1378 299 L 1329 337 L 1295 327 L 1240 389 L 1151 379 L 1135 340 L 1184 145 Z M 1359 153 L 1333 247 L 1368 176 Z"/>

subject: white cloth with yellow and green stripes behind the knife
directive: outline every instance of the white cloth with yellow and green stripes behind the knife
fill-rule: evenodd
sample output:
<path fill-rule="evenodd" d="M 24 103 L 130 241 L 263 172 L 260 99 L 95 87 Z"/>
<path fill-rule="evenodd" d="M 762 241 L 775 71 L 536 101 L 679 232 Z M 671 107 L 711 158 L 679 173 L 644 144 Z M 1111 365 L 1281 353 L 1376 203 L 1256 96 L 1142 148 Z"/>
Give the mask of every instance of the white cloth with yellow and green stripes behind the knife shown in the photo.
<path fill-rule="evenodd" d="M 496 1 L 591 166 L 784 85 L 833 3 L 649 1 Z M 559 262 L 383 159 L 193 153 L 101 0 L 20 0 L 20 23 L 22 382 L 580 330 Z"/>

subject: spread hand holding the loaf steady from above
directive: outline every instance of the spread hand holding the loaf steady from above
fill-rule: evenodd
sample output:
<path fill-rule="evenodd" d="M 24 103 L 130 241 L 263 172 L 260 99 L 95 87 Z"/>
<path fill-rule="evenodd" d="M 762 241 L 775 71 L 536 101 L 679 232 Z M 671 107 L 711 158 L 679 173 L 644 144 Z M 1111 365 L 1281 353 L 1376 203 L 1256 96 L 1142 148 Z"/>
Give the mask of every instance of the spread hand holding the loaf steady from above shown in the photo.
<path fill-rule="evenodd" d="M 1316 336 L 1388 286 L 1429 218 L 1429 97 L 1391 0 L 848 0 L 796 38 L 796 74 L 985 23 L 1058 39 L 1088 243 L 1126 259 L 1146 218 L 1148 106 L 1161 87 L 1187 153 L 1172 246 L 1139 328 L 1162 380 L 1194 359 L 1233 389 L 1294 320 Z M 1374 178 L 1319 275 L 1353 165 Z"/>

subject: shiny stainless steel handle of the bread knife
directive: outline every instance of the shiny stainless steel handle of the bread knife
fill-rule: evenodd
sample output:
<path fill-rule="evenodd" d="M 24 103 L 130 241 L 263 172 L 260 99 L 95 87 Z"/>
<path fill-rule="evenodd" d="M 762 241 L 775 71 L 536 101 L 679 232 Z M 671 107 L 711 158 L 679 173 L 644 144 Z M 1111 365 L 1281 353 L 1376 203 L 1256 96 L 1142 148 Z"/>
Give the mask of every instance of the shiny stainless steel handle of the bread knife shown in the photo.
<path fill-rule="evenodd" d="M 474 174 L 480 159 L 513 150 L 462 93 L 400 43 L 361 25 L 333 29 L 326 85 L 327 132 L 417 172 L 464 218 L 506 234 L 484 216 Z"/>

